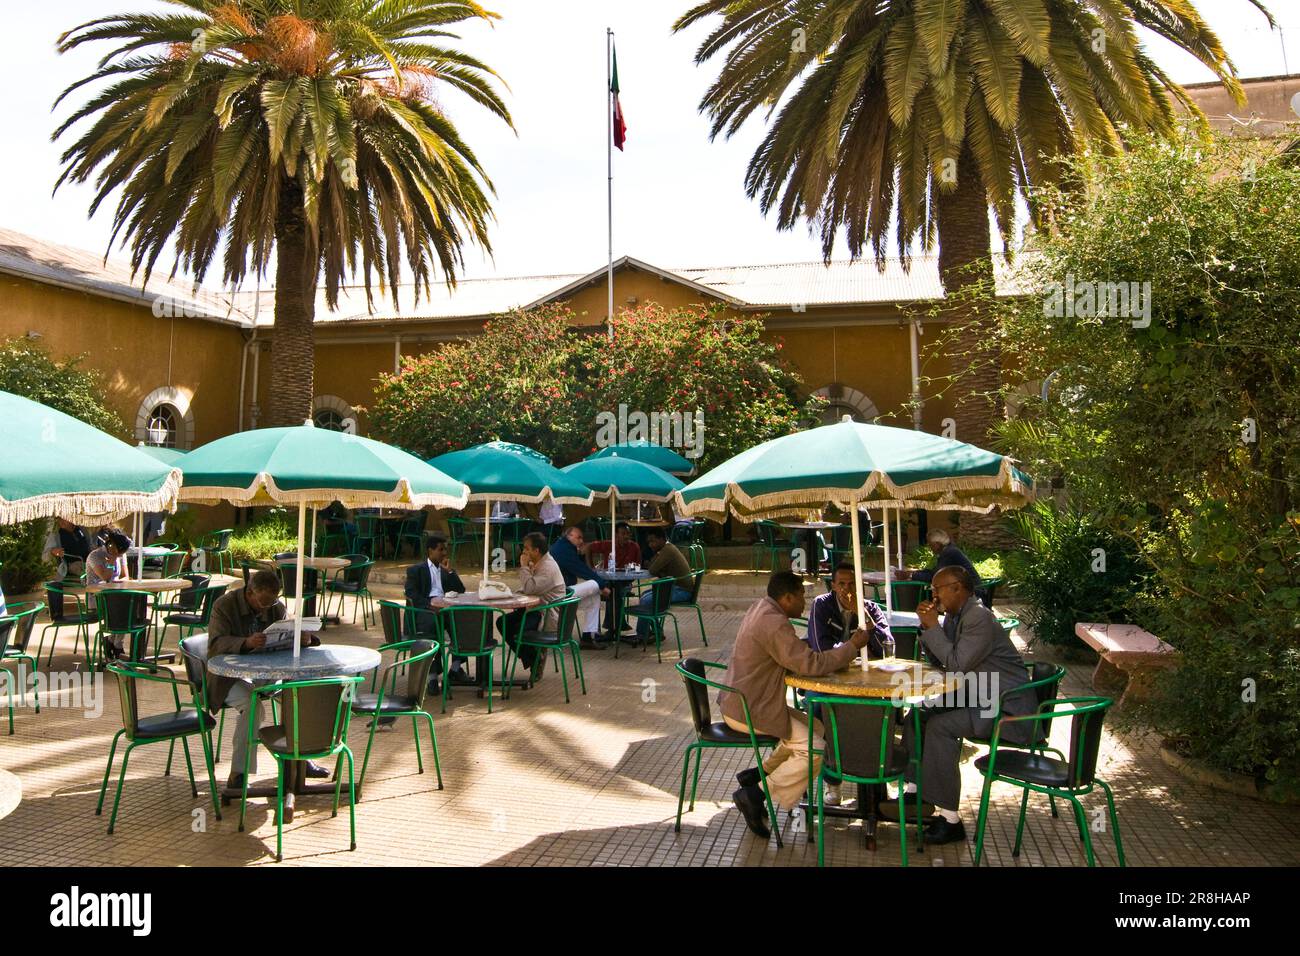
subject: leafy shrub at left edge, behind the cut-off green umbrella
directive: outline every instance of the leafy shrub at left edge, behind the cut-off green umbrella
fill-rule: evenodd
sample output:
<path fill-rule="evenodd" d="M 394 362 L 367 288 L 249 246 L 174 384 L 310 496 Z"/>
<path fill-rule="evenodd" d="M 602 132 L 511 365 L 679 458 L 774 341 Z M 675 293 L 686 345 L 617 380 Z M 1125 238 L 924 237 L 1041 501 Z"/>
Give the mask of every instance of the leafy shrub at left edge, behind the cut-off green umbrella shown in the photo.
<path fill-rule="evenodd" d="M 83 356 L 55 359 L 26 338 L 0 342 L 0 392 L 30 398 L 95 425 L 118 438 L 126 438 L 126 423 L 107 405 L 104 378 L 82 365 Z M 0 584 L 6 593 L 23 594 L 49 572 L 43 561 L 49 522 L 22 522 L 0 525 Z"/>

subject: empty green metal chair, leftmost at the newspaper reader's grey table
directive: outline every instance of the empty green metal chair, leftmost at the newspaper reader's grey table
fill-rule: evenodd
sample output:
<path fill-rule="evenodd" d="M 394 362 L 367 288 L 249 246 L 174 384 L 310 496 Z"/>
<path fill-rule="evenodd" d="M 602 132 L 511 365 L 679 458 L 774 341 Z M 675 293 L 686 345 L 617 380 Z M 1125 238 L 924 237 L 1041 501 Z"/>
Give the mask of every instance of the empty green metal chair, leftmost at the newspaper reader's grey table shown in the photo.
<path fill-rule="evenodd" d="M 195 797 L 199 796 L 199 786 L 194 779 L 194 762 L 190 760 L 190 737 L 192 736 L 198 736 L 203 744 L 203 762 L 208 770 L 208 791 L 212 797 L 212 809 L 217 814 L 217 819 L 221 819 L 221 805 L 217 803 L 217 784 L 213 779 L 214 773 L 212 762 L 211 734 L 214 721 L 207 714 L 207 711 L 204 711 L 203 705 L 198 698 L 191 700 L 190 708 L 185 708 L 181 704 L 181 693 L 177 688 L 191 687 L 190 683 L 187 680 L 181 680 L 179 678 L 164 676 L 159 671 L 140 663 L 110 663 L 108 665 L 108 672 L 117 675 L 117 692 L 122 702 L 122 730 L 113 735 L 113 745 L 108 752 L 108 766 L 104 767 L 104 783 L 100 784 L 99 804 L 95 806 L 96 817 L 104 812 L 104 796 L 108 792 L 108 775 L 113 770 L 113 758 L 117 754 L 117 741 L 122 736 L 127 740 L 126 752 L 122 754 L 122 769 L 117 777 L 117 792 L 113 796 L 113 814 L 108 819 L 108 832 L 112 834 L 113 827 L 117 826 L 117 808 L 122 800 L 122 783 L 126 780 L 126 763 L 131 758 L 131 750 L 136 747 L 162 743 L 174 744 L 179 740 L 185 752 L 185 766 L 190 774 L 190 792 L 192 792 Z M 136 684 L 142 680 L 157 684 L 169 684 L 172 687 L 172 697 L 176 702 L 176 710 L 151 717 L 140 717 Z M 170 773 L 172 761 L 169 758 L 164 777 Z"/>

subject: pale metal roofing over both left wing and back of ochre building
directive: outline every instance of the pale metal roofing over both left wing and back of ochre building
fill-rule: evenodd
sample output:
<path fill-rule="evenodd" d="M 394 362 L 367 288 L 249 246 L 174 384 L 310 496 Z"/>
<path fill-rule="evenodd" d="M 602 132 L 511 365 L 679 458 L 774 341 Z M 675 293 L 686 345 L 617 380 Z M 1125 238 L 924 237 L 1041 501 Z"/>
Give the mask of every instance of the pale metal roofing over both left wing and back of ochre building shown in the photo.
<path fill-rule="evenodd" d="M 1014 291 L 1000 258 L 994 259 L 994 265 L 1000 290 Z M 889 259 L 883 272 L 874 260 L 666 269 L 624 256 L 615 261 L 615 271 L 625 269 L 647 272 L 699 293 L 702 298 L 755 312 L 796 307 L 802 311 L 802 307 L 889 306 L 942 295 L 935 256 L 914 258 L 910 271 L 900 260 Z M 127 263 L 105 260 L 94 252 L 6 229 L 0 229 L 0 273 L 147 306 L 155 313 L 160 311 L 155 302 L 162 298 L 178 315 L 244 326 L 256 324 L 259 328 L 270 326 L 274 321 L 274 289 L 234 294 L 195 291 L 187 284 L 155 277 L 146 290 L 131 278 Z M 364 286 L 350 285 L 339 290 L 338 310 L 333 312 L 325 304 L 325 291 L 317 291 L 316 321 L 334 325 L 486 319 L 514 308 L 562 300 L 581 289 L 603 284 L 604 276 L 606 267 L 588 273 L 465 278 L 455 289 L 436 284 L 428 295 L 421 295 L 419 304 L 411 284 L 398 289 L 396 300 L 376 286 L 373 310 L 367 307 Z"/>

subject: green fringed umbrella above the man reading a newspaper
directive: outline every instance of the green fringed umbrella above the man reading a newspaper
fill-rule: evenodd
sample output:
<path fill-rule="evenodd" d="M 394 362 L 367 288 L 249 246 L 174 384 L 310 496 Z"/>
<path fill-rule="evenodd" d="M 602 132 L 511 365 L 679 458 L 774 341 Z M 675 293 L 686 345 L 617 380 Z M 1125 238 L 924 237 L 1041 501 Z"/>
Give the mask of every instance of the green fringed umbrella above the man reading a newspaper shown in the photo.
<path fill-rule="evenodd" d="M 463 509 L 469 489 L 400 449 L 346 432 L 259 428 L 208 442 L 185 457 L 181 501 L 240 506 L 298 505 L 298 594 L 303 593 L 307 509 L 341 501 L 348 507 Z M 302 604 L 302 598 L 299 598 Z M 302 640 L 302 613 L 294 654 Z"/>

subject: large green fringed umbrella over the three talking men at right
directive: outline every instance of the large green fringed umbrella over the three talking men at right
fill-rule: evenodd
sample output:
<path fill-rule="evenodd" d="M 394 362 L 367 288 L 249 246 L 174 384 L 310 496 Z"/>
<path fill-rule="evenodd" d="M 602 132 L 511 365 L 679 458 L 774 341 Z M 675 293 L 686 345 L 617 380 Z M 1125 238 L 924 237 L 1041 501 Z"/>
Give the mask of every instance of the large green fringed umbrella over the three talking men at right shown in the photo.
<path fill-rule="evenodd" d="M 937 434 L 871 425 L 845 416 L 833 425 L 797 432 L 757 445 L 723 462 L 677 494 L 677 510 L 714 520 L 820 514 L 836 505 L 852 515 L 853 559 L 858 580 L 858 620 L 863 617 L 858 509 L 885 514 L 885 605 L 889 588 L 889 509 L 987 512 L 1022 507 L 1034 483 L 1011 459 Z M 866 658 L 863 658 L 863 665 Z"/>

